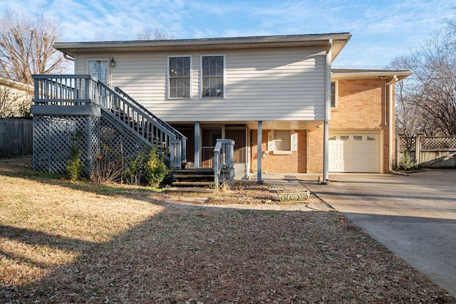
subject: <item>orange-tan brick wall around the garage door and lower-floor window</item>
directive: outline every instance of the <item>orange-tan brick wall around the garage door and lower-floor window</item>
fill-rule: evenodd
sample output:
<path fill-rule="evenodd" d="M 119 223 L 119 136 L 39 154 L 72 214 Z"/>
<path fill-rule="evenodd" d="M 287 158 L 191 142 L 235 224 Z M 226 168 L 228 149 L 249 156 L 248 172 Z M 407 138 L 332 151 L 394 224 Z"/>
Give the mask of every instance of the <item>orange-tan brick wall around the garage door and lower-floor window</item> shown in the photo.
<path fill-rule="evenodd" d="M 387 103 L 385 116 L 385 93 L 388 95 L 388 89 L 385 91 L 385 80 L 381 80 L 380 78 L 372 80 L 338 80 L 338 107 L 331 110 L 331 122 L 329 126 L 330 132 L 337 130 L 360 130 L 380 134 L 380 143 L 383 144 L 381 147 L 383 161 L 380 167 L 383 173 L 388 172 L 389 163 L 389 113 Z M 385 125 L 385 117 L 387 118 L 387 125 Z M 269 130 L 263 130 L 262 151 L 267 150 L 268 132 Z M 307 140 L 306 136 L 308 137 Z M 252 172 L 254 172 L 257 169 L 257 130 L 252 130 L 251 138 L 251 162 Z M 300 130 L 298 141 L 299 151 L 292 152 L 291 155 L 274 155 L 269 152 L 261 162 L 263 171 L 269 173 L 322 173 L 323 124 L 311 130 Z"/>

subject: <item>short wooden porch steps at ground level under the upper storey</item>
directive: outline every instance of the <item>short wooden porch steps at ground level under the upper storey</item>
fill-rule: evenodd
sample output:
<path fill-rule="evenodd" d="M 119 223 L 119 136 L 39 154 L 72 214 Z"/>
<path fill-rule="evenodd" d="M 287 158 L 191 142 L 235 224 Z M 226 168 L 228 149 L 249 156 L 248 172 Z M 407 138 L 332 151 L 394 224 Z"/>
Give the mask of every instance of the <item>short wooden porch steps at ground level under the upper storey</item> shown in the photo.
<path fill-rule="evenodd" d="M 190 168 L 174 170 L 168 194 L 175 196 L 211 197 L 214 195 L 214 169 Z"/>

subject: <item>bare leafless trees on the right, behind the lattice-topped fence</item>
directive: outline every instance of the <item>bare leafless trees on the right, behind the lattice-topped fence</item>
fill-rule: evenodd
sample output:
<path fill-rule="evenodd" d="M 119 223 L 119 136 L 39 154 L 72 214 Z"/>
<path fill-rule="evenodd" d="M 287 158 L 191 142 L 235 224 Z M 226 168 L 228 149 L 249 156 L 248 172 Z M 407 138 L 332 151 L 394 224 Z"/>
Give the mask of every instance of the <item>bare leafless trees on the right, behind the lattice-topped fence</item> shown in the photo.
<path fill-rule="evenodd" d="M 401 132 L 456 135 L 455 45 L 455 32 L 447 27 L 417 51 L 393 61 L 394 68 L 413 71 L 398 86 L 396 120 Z"/>

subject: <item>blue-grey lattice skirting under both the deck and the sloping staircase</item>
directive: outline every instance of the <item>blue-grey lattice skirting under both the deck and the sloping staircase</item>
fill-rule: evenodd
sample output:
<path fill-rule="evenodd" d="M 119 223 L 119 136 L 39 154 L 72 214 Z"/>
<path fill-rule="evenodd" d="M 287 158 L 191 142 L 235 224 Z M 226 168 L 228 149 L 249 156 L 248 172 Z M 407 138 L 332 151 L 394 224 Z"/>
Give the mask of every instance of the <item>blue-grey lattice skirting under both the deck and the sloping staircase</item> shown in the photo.
<path fill-rule="evenodd" d="M 78 140 L 75 140 L 78 137 Z M 83 175 L 90 177 L 100 157 L 126 164 L 148 150 L 104 117 L 33 115 L 33 168 L 65 174 L 73 145 L 81 150 Z"/>

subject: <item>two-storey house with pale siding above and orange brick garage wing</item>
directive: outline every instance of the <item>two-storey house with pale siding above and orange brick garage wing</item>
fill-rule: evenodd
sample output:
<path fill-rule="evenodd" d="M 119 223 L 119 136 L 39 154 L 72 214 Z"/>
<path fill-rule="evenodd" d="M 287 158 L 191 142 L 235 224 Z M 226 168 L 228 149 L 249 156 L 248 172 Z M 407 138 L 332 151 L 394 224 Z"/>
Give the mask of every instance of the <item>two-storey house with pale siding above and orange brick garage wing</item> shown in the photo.
<path fill-rule="evenodd" d="M 230 139 L 237 179 L 261 180 L 261 172 L 321 173 L 326 182 L 329 172 L 388 172 L 394 83 L 410 75 L 332 69 L 350 38 L 350 33 L 328 33 L 56 43 L 54 48 L 72 58 L 76 75 L 101 80 L 108 85 L 103 92 L 123 93 L 177 130 L 185 138 L 187 166 L 212 167 L 217 139 Z M 44 84 L 35 85 L 38 90 Z M 100 100 L 111 98 L 118 100 Z M 44 110 L 39 101 L 38 118 L 69 113 Z M 116 104 L 110 111 L 118 109 Z M 92 114 L 97 110 L 85 112 Z M 125 121 L 122 115 L 117 120 Z"/>

